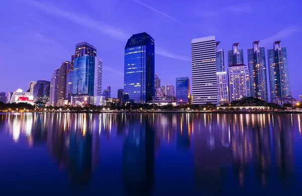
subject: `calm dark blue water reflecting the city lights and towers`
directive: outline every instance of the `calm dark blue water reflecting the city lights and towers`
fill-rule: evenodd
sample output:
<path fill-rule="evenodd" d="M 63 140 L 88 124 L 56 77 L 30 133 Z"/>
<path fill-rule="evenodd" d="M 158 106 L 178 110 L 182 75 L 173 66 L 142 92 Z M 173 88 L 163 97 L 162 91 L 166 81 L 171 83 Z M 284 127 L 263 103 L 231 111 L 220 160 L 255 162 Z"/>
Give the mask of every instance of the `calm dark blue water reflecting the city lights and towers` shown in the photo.
<path fill-rule="evenodd" d="M 0 195 L 302 195 L 301 121 L 0 114 Z"/>

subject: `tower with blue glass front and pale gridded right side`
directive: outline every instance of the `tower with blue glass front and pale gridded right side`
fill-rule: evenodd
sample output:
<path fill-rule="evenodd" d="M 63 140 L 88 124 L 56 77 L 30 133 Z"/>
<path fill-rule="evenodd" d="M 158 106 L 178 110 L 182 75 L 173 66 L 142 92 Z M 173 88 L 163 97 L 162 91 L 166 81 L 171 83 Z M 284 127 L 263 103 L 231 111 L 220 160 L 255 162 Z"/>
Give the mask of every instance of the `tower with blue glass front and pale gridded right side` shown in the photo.
<path fill-rule="evenodd" d="M 74 59 L 71 103 L 73 106 L 99 105 L 102 95 L 102 61 L 95 56 L 80 56 Z"/>

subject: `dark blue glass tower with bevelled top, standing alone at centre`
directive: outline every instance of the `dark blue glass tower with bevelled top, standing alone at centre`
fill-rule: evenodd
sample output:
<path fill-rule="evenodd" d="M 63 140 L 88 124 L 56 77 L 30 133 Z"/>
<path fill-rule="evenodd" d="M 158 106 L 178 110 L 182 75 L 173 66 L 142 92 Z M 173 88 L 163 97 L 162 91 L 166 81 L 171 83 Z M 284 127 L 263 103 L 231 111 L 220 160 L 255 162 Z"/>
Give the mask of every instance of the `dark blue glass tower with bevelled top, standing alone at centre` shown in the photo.
<path fill-rule="evenodd" d="M 154 96 L 155 45 L 147 33 L 132 35 L 125 46 L 124 92 L 136 103 L 147 103 Z"/>

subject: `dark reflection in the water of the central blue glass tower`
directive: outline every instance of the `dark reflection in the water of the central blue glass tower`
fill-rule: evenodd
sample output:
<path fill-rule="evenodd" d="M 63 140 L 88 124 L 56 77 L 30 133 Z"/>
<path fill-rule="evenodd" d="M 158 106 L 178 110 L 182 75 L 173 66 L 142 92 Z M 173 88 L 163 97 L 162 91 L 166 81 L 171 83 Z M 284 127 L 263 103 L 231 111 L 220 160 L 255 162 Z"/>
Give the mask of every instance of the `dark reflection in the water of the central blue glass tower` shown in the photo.
<path fill-rule="evenodd" d="M 152 191 L 154 154 L 154 127 L 144 115 L 129 116 L 123 143 L 123 181 L 130 195 L 148 194 Z"/>

